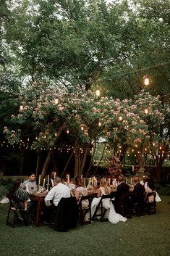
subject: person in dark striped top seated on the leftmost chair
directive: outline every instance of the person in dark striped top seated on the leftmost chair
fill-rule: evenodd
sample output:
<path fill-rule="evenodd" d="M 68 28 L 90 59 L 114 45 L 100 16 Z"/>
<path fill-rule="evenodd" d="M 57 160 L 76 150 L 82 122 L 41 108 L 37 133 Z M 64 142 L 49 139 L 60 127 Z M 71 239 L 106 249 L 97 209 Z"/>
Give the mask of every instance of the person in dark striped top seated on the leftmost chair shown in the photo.
<path fill-rule="evenodd" d="M 20 206 L 22 210 L 27 211 L 27 221 L 30 221 L 31 215 L 33 215 L 34 207 L 35 205 L 33 202 L 30 202 L 29 200 L 29 193 L 22 189 L 22 182 L 20 179 L 17 179 L 13 182 L 12 188 L 9 190 L 9 193 L 7 194 L 7 197 L 9 199 L 14 199 L 16 197 L 18 199 L 18 202 L 20 203 Z"/>

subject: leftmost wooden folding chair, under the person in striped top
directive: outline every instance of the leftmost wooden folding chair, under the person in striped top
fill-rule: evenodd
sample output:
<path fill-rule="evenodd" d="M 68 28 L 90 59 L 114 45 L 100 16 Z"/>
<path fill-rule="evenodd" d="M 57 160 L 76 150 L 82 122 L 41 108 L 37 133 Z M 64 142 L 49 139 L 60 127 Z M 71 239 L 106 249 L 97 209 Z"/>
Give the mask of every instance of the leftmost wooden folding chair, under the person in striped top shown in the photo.
<path fill-rule="evenodd" d="M 11 216 L 11 212 L 13 214 L 13 220 L 9 220 Z M 7 225 L 12 225 L 12 228 L 14 228 L 15 223 L 18 221 L 22 221 L 25 223 L 25 226 L 27 226 L 27 218 L 25 215 L 25 210 L 22 209 L 20 202 L 16 197 L 13 199 L 9 198 L 9 210 L 7 215 Z"/>

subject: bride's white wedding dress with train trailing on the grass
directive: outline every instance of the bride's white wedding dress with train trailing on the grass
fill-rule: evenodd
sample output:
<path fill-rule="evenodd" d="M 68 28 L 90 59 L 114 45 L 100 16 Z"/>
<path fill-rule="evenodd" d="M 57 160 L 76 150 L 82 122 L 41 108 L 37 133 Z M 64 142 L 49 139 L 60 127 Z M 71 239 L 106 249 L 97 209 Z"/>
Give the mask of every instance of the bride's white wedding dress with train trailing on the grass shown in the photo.
<path fill-rule="evenodd" d="M 101 188 L 101 196 L 105 194 L 105 192 L 103 191 L 103 189 Z M 93 201 L 91 203 L 91 215 L 93 216 L 94 212 L 95 212 L 95 209 L 100 201 L 101 197 L 95 197 L 93 198 Z M 106 198 L 106 199 L 103 199 L 103 207 L 106 210 L 106 214 L 104 215 L 104 218 L 108 218 L 109 219 L 109 222 L 113 223 L 113 224 L 116 224 L 118 223 L 119 221 L 123 221 L 125 222 L 127 220 L 127 218 L 124 218 L 122 215 L 120 215 L 119 213 L 116 213 L 116 211 L 114 210 L 114 205 L 113 203 L 111 202 L 111 199 L 110 198 Z M 100 209 L 98 211 L 101 211 Z M 97 214 L 100 213 L 100 212 L 97 212 Z M 88 214 L 88 213 L 87 213 Z M 88 216 L 87 216 L 88 217 Z M 97 217 L 98 218 L 98 217 Z"/>

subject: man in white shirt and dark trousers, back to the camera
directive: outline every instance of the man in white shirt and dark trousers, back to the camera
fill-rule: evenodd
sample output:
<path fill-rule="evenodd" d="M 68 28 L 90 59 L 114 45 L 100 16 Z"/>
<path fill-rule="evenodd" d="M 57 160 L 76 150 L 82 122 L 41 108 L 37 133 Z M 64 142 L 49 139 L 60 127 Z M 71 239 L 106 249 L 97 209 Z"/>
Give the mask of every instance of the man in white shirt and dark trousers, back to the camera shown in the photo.
<path fill-rule="evenodd" d="M 57 176 L 54 179 L 54 187 L 48 192 L 45 197 L 46 209 L 44 209 L 44 220 L 47 223 L 51 222 L 51 216 L 54 214 L 59 201 L 62 197 L 70 197 L 70 189 L 68 186 L 61 183 L 61 178 Z"/>

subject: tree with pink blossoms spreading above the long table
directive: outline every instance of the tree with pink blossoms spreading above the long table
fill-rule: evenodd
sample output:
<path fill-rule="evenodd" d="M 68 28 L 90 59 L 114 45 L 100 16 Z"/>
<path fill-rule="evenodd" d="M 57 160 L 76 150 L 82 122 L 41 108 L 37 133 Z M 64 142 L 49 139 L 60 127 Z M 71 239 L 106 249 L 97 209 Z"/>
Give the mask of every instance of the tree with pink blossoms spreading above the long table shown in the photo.
<path fill-rule="evenodd" d="M 158 128 L 163 123 L 163 112 L 158 110 L 158 97 L 150 96 L 145 91 L 135 96 L 135 102 L 127 99 L 121 102 L 106 96 L 98 98 L 92 91 L 69 93 L 35 82 L 27 86 L 20 101 L 20 113 L 11 117 L 12 124 L 15 127 L 20 125 L 20 129 L 5 127 L 4 133 L 11 144 L 19 143 L 23 136 L 30 134 L 31 149 L 49 150 L 42 176 L 46 175 L 54 148 L 63 132 L 74 141 L 75 175 L 80 175 L 92 141 L 102 138 L 112 145 L 134 146 L 143 154 L 143 146 L 153 141 L 153 136 L 158 141 L 156 133 L 151 134 L 151 128 L 153 125 Z M 145 114 L 146 106 L 149 116 Z M 143 168 L 143 162 L 139 157 L 138 160 Z"/>

